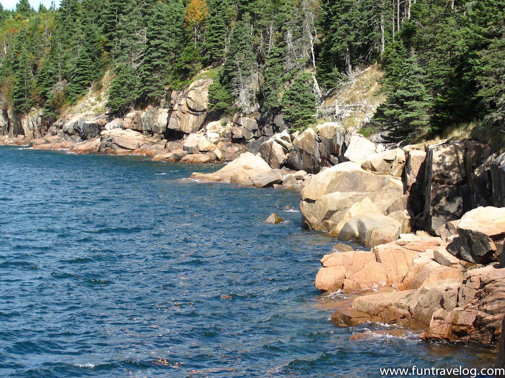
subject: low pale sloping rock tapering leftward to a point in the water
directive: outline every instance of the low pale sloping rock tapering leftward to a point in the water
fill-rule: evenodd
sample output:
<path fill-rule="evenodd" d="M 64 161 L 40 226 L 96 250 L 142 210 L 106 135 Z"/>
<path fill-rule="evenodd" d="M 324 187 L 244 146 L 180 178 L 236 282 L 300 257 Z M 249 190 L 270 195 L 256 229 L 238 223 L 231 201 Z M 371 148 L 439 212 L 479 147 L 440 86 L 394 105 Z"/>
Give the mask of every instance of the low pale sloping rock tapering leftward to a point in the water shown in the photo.
<path fill-rule="evenodd" d="M 251 177 L 269 172 L 272 168 L 260 156 L 244 152 L 238 159 L 226 164 L 223 168 L 214 173 L 194 172 L 191 178 L 202 181 L 220 181 L 226 183 L 250 182 Z"/>

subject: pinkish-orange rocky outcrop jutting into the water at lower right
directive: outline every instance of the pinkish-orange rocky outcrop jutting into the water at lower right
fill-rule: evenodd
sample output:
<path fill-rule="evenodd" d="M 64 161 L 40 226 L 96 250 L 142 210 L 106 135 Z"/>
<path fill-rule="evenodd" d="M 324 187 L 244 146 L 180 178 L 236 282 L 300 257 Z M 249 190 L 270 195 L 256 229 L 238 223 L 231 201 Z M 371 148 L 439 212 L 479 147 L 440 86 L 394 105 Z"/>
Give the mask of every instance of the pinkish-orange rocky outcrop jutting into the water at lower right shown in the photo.
<path fill-rule="evenodd" d="M 498 244 L 491 255 L 499 260 L 505 237 L 500 233 L 505 224 L 501 210 L 478 208 L 445 229 L 459 230 L 462 223 L 462 230 L 473 227 L 467 247 L 471 243 L 474 250 L 488 251 Z M 396 324 L 423 331 L 426 340 L 496 343 L 505 308 L 505 269 L 498 263 L 482 266 L 456 258 L 448 251 L 455 239 L 403 234 L 369 252 L 326 255 L 316 287 L 365 294 L 339 308 L 332 321 L 339 326 Z M 371 289 L 381 290 L 367 293 Z"/>

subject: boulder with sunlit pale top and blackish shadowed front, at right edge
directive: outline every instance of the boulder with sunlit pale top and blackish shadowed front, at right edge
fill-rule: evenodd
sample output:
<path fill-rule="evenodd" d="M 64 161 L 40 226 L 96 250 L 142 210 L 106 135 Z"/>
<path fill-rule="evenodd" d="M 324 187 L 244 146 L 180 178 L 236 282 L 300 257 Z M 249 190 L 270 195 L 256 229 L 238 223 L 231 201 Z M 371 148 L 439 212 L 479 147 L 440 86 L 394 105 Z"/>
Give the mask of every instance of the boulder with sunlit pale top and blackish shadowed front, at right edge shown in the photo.
<path fill-rule="evenodd" d="M 505 208 L 479 207 L 458 223 L 460 256 L 478 264 L 500 261 L 505 238 Z"/>

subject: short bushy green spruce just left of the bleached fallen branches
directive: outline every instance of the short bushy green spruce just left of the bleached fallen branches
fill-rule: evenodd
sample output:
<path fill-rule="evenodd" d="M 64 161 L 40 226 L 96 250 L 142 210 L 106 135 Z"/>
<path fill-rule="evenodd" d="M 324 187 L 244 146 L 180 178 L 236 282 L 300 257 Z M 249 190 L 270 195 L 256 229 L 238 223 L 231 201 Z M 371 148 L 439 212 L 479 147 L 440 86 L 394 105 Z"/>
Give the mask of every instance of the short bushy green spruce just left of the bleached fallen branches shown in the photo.
<path fill-rule="evenodd" d="M 294 79 L 282 97 L 282 115 L 294 129 L 305 129 L 316 121 L 316 96 L 312 87 L 312 75 L 302 73 Z"/>

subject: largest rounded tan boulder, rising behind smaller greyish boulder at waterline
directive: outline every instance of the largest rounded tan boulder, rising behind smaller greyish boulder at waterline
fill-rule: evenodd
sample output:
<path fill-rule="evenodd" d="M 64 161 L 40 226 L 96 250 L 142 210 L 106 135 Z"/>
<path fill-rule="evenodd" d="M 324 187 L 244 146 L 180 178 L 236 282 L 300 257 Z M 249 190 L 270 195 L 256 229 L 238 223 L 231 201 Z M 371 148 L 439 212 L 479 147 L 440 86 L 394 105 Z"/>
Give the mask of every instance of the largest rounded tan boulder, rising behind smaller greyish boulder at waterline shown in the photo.
<path fill-rule="evenodd" d="M 305 227 L 332 231 L 335 226 L 343 227 L 350 218 L 349 211 L 356 210 L 355 204 L 364 198 L 387 215 L 387 209 L 402 196 L 403 184 L 398 178 L 376 175 L 356 163 L 345 162 L 323 170 L 309 181 L 301 192 L 300 211 Z M 364 207 L 364 212 L 368 208 Z M 353 215 L 358 215 L 357 211 Z"/>

